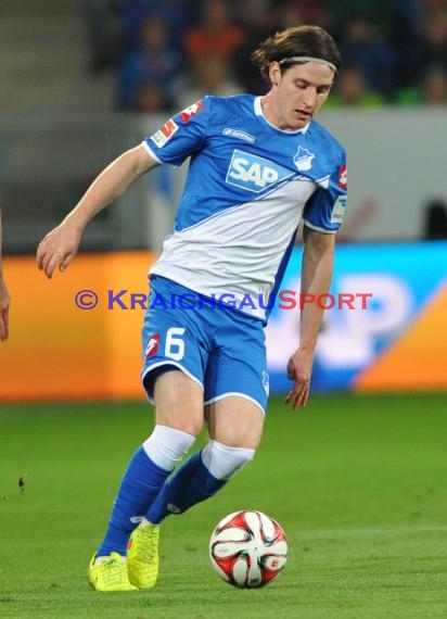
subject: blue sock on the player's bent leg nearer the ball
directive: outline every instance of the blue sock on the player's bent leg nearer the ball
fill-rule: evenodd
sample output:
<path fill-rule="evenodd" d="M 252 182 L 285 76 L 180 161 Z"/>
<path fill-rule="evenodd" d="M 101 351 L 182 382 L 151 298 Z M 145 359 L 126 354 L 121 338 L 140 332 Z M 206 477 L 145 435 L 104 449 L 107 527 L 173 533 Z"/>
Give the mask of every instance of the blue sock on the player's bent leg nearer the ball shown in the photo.
<path fill-rule="evenodd" d="M 177 471 L 166 480 L 146 518 L 158 525 L 169 514 L 181 514 L 216 494 L 227 480 L 216 479 L 202 462 L 202 452 L 188 458 Z"/>

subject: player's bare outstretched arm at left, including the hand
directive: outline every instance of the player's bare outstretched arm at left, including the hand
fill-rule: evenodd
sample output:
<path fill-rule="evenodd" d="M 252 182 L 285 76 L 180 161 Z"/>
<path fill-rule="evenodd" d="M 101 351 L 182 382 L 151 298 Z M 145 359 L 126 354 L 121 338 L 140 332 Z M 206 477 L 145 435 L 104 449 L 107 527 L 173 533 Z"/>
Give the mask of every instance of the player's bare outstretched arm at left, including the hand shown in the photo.
<path fill-rule="evenodd" d="M 158 163 L 142 144 L 113 161 L 91 184 L 75 209 L 39 243 L 38 268 L 50 279 L 56 268 L 64 271 L 78 251 L 87 224 L 156 165 Z"/>

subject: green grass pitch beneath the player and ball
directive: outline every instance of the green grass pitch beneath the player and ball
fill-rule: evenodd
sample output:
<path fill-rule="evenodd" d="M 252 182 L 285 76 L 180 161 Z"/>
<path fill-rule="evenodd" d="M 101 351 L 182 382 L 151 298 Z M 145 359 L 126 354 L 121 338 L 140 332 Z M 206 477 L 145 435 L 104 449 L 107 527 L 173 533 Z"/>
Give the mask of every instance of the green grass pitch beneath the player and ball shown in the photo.
<path fill-rule="evenodd" d="M 144 403 L 0 408 L 0 617 L 447 617 L 446 394 L 314 395 L 299 412 L 271 399 L 254 462 L 165 521 L 156 589 L 93 592 L 88 561 L 151 427 Z M 208 559 L 215 523 L 244 507 L 289 536 L 263 590 L 231 588 Z"/>

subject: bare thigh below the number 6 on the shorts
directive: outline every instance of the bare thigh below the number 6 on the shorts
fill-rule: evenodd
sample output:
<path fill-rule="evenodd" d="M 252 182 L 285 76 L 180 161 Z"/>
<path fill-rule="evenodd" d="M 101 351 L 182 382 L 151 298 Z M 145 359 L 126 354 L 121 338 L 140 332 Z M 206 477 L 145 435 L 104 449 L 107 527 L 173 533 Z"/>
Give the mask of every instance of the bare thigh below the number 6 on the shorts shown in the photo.
<path fill-rule="evenodd" d="M 196 437 L 204 421 L 203 390 L 179 369 L 158 376 L 154 383 L 156 424 Z"/>

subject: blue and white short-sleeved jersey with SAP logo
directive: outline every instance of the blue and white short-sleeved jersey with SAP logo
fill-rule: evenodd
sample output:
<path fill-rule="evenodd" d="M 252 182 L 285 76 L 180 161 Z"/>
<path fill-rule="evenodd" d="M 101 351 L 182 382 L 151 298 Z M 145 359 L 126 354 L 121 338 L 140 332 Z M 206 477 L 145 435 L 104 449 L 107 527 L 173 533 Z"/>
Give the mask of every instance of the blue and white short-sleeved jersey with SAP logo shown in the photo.
<path fill-rule="evenodd" d="M 267 301 L 301 219 L 328 233 L 342 223 L 344 149 L 316 121 L 293 132 L 272 126 L 259 97 L 205 97 L 143 143 L 158 163 L 191 157 L 174 232 L 151 273 L 197 293 Z"/>

